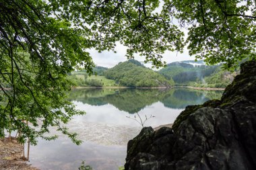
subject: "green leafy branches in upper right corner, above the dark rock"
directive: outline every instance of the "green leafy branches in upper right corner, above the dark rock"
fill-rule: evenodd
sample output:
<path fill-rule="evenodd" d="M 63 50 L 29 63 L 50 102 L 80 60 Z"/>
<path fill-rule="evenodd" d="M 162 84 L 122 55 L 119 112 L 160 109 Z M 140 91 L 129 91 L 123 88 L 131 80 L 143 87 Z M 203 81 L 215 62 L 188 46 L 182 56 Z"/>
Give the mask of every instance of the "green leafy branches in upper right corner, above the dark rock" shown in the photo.
<path fill-rule="evenodd" d="M 190 55 L 226 68 L 255 58 L 256 1 L 166 0 L 163 11 L 188 29 Z"/>

